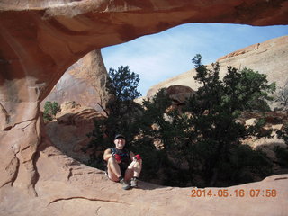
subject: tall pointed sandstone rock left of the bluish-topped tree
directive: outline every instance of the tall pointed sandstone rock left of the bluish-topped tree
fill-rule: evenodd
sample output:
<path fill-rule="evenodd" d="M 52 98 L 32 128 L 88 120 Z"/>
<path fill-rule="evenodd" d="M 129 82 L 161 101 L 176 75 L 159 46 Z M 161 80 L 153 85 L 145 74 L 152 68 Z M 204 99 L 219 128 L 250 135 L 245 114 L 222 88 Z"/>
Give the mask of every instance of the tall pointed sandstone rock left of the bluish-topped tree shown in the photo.
<path fill-rule="evenodd" d="M 107 77 L 100 49 L 91 51 L 67 69 L 41 106 L 46 101 L 75 101 L 102 111 L 100 106 L 105 108 L 110 99 L 105 87 Z"/>

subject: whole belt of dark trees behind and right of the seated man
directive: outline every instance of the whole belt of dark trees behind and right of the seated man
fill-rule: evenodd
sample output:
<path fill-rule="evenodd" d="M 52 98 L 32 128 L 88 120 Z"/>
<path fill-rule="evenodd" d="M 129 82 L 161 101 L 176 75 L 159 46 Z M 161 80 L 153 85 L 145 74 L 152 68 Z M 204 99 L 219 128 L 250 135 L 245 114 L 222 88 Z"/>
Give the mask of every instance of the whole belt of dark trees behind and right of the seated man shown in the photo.
<path fill-rule="evenodd" d="M 171 186 L 229 186 L 260 180 L 273 174 L 273 161 L 261 149 L 244 144 L 249 138 L 269 138 L 263 130 L 265 115 L 252 125 L 238 121 L 244 112 L 266 112 L 268 101 L 275 99 L 275 83 L 266 75 L 247 67 L 228 67 L 220 79 L 218 62 L 202 65 L 202 56 L 193 59 L 194 79 L 201 87 L 184 105 L 175 106 L 161 89 L 142 104 L 133 100 L 139 75 L 129 67 L 110 69 L 107 88 L 115 95 L 107 106 L 107 118 L 94 121 L 88 135 L 93 148 L 90 166 L 104 169 L 102 152 L 112 147 L 115 133 L 126 136 L 127 146 L 144 159 L 141 178 Z M 261 114 L 260 114 L 261 116 Z M 287 127 L 278 130 L 287 143 Z M 287 149 L 275 148 L 283 167 Z"/>

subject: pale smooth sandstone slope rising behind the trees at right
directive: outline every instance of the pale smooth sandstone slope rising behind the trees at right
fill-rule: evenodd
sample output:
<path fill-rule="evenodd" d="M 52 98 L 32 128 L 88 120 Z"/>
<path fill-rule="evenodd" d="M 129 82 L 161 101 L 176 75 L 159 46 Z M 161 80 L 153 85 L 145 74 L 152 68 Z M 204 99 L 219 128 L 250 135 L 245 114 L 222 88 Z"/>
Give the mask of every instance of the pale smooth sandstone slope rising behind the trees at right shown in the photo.
<path fill-rule="evenodd" d="M 220 76 L 227 72 L 227 66 L 236 68 L 248 67 L 261 74 L 266 74 L 269 82 L 276 82 L 277 86 L 283 87 L 288 82 L 288 36 L 267 40 L 247 48 L 237 50 L 227 56 L 219 58 Z M 181 75 L 167 79 L 148 90 L 147 96 L 157 93 L 158 89 L 170 85 L 187 85 L 193 90 L 199 87 L 193 76 L 195 69 L 189 70 Z"/>

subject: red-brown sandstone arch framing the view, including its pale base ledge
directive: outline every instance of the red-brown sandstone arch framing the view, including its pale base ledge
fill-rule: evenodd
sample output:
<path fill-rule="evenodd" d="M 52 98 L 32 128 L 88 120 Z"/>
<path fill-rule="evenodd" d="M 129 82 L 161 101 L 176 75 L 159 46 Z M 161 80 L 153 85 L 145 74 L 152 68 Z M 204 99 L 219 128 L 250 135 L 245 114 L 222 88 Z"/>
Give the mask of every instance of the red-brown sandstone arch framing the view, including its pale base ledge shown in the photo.
<path fill-rule="evenodd" d="M 79 165 L 55 148 L 43 130 L 39 107 L 67 67 L 91 50 L 181 23 L 287 24 L 287 11 L 284 0 L 2 0 L 1 213 L 284 215 L 287 175 L 231 188 L 274 188 L 277 196 L 268 200 L 201 197 L 195 202 L 189 197 L 191 189 L 148 184 L 140 190 L 121 191 L 99 170 Z"/>

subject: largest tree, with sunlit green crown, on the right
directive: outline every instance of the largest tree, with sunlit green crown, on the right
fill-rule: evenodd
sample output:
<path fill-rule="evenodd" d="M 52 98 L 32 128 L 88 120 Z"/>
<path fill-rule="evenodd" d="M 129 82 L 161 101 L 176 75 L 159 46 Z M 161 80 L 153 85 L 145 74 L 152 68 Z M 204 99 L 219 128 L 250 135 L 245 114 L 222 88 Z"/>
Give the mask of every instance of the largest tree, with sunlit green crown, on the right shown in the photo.
<path fill-rule="evenodd" d="M 193 58 L 197 72 L 194 78 L 202 86 L 186 107 L 185 112 L 191 112 L 193 116 L 188 120 L 193 130 L 187 137 L 189 142 L 183 143 L 181 149 L 187 149 L 184 156 L 191 166 L 190 171 L 201 173 L 205 185 L 212 186 L 219 179 L 225 180 L 225 170 L 228 170 L 228 166 L 234 166 L 237 160 L 233 160 L 231 156 L 235 157 L 236 149 L 241 146 L 240 140 L 249 136 L 261 136 L 261 121 L 246 128 L 236 120 L 242 111 L 259 111 L 266 106 L 266 100 L 272 100 L 269 94 L 275 91 L 275 84 L 268 85 L 266 75 L 247 68 L 238 71 L 228 67 L 226 76 L 220 80 L 219 63 L 212 64 L 211 69 L 208 69 L 202 65 L 201 60 L 201 55 Z M 253 153 L 246 154 L 245 159 L 253 160 L 252 157 L 257 157 Z M 267 168 L 267 172 L 268 170 Z M 257 171 L 257 168 L 253 171 Z M 240 170 L 238 172 L 239 176 Z M 266 175 L 267 172 L 261 175 Z M 227 178 L 228 176 L 226 180 Z M 233 181 L 235 179 L 234 176 Z"/>

